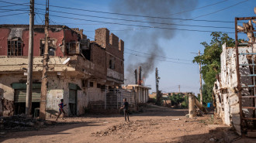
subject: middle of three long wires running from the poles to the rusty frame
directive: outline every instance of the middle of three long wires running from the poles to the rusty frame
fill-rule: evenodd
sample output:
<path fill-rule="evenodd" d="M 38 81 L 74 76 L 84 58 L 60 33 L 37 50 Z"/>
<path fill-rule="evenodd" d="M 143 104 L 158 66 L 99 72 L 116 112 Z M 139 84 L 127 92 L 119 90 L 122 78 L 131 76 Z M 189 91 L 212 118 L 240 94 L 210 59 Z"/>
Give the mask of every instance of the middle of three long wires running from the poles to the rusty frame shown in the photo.
<path fill-rule="evenodd" d="M 43 9 L 40 9 L 40 10 L 43 10 Z M 166 23 L 166 22 L 145 22 L 145 21 L 131 20 L 131 19 L 116 19 L 116 18 L 105 17 L 105 16 L 83 15 L 83 14 L 78 14 L 78 13 L 61 12 L 61 11 L 55 11 L 55 10 L 51 10 L 51 12 L 65 13 L 65 14 L 69 14 L 69 15 L 81 15 L 81 16 L 86 16 L 86 17 L 100 18 L 100 19 L 121 20 L 121 21 L 126 21 L 126 22 L 142 22 L 142 23 L 172 25 L 172 26 L 191 26 L 191 27 L 203 27 L 203 28 L 234 29 L 231 27 L 220 27 L 220 26 L 198 26 L 198 25 L 185 25 L 185 24 L 175 24 L 175 23 Z"/>

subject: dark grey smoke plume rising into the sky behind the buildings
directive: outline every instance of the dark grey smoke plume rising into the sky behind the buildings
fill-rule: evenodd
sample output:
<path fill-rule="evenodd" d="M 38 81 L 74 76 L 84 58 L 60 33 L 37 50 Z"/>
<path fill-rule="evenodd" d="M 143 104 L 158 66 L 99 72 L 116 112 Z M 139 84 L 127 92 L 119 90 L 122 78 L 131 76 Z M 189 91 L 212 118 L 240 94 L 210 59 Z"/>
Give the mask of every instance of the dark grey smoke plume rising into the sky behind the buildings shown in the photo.
<path fill-rule="evenodd" d="M 182 12 L 188 9 L 193 9 L 197 5 L 198 0 L 112 0 L 112 5 L 110 9 L 113 12 L 119 13 L 128 13 L 133 15 L 150 15 L 150 16 L 159 16 L 159 17 L 170 17 L 170 18 L 189 18 L 189 12 L 184 12 L 178 15 L 171 15 L 175 12 Z M 121 15 L 120 15 L 121 16 Z M 160 22 L 160 23 L 172 23 L 174 22 L 171 19 L 150 19 L 150 18 L 138 18 L 133 16 L 123 16 L 126 19 L 137 19 L 140 21 L 149 21 L 149 22 Z M 123 22 L 126 24 L 134 24 L 141 26 L 161 26 L 160 24 L 145 24 L 141 22 Z M 175 23 L 180 23 L 175 21 Z M 175 28 L 175 26 L 162 26 L 168 28 Z M 126 31 L 125 37 L 125 51 L 129 53 L 134 53 L 132 51 L 126 50 L 133 49 L 137 51 L 143 51 L 144 53 L 150 53 L 150 55 L 144 55 L 143 53 L 137 53 L 138 55 L 144 56 L 143 58 L 130 55 L 126 59 L 126 70 L 125 70 L 125 83 L 135 83 L 134 70 L 138 69 L 139 66 L 142 66 L 142 75 L 144 78 L 147 78 L 150 73 L 154 72 L 157 63 L 160 62 L 159 57 L 154 55 L 164 55 L 164 48 L 168 46 L 161 47 L 160 39 L 169 40 L 175 36 L 174 30 L 165 30 L 165 29 L 147 29 L 147 28 L 138 28 L 138 27 L 129 27 L 130 31 Z M 128 29 L 120 26 L 119 29 Z M 127 46 L 129 45 L 129 46 Z M 161 59 L 164 60 L 164 59 Z"/>

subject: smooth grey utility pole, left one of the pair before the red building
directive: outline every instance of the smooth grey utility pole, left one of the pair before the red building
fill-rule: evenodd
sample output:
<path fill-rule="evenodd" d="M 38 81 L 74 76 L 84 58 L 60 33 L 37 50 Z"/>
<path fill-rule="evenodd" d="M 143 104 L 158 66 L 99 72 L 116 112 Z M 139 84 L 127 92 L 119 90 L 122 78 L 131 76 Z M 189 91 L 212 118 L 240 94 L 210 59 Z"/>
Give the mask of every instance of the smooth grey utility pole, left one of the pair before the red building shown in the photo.
<path fill-rule="evenodd" d="M 33 39 L 34 39 L 34 0 L 30 0 L 29 14 L 29 63 L 26 80 L 26 115 L 31 114 L 32 107 L 32 73 L 33 73 Z"/>

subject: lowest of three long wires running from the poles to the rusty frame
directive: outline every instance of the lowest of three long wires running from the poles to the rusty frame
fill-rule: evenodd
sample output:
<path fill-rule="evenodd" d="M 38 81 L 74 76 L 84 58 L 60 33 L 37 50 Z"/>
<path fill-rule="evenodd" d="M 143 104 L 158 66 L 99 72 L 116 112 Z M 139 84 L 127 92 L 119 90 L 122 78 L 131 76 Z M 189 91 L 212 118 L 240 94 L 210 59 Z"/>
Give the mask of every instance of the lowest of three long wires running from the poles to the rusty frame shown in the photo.
<path fill-rule="evenodd" d="M 43 13 L 37 13 L 37 14 L 43 15 Z M 60 18 L 64 18 L 64 19 L 74 19 L 74 20 L 87 21 L 87 22 L 102 22 L 102 21 L 89 20 L 89 19 L 71 18 L 71 17 L 61 16 L 61 15 L 51 15 L 51 16 L 60 17 Z M 193 32 L 213 32 L 213 31 L 209 31 L 209 30 L 176 29 L 176 28 L 157 27 L 157 26 L 140 26 L 140 25 L 122 24 L 122 23 L 118 23 L 118 22 L 102 22 L 102 23 L 114 24 L 114 25 L 120 25 L 120 26 L 136 26 L 136 27 L 144 27 L 144 28 L 152 28 L 152 29 L 182 30 L 182 31 L 193 31 Z M 234 32 L 225 32 L 225 33 L 234 33 Z"/>

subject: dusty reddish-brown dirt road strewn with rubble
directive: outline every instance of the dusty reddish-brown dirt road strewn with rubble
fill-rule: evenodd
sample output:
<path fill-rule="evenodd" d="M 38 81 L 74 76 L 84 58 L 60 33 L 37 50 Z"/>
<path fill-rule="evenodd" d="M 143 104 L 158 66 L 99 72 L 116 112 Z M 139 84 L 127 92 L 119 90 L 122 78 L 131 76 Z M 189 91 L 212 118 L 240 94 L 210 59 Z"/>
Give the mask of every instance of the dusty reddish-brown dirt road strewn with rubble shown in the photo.
<path fill-rule="evenodd" d="M 2 142 L 224 142 L 228 127 L 211 115 L 185 118 L 186 110 L 150 106 L 142 114 L 68 117 L 38 131 L 9 132 Z M 175 120 L 174 120 L 175 119 Z M 176 120 L 179 119 L 179 120 Z"/>

